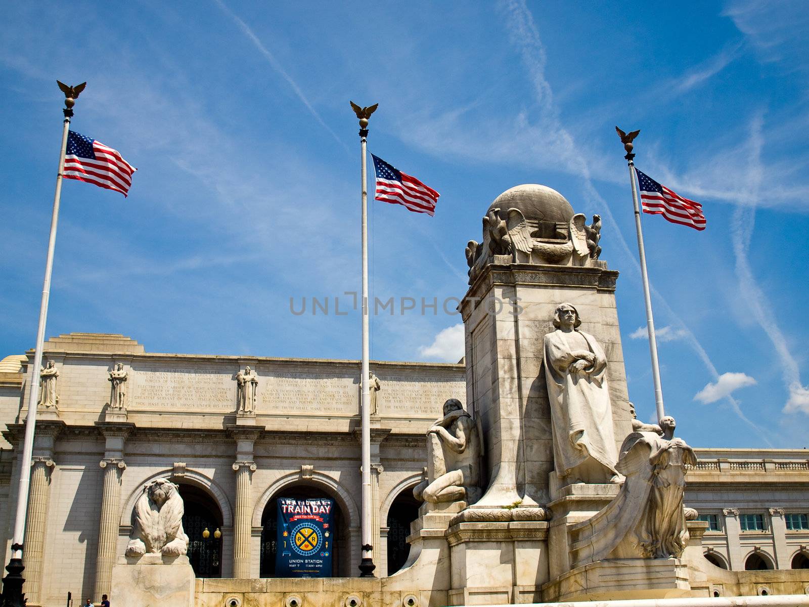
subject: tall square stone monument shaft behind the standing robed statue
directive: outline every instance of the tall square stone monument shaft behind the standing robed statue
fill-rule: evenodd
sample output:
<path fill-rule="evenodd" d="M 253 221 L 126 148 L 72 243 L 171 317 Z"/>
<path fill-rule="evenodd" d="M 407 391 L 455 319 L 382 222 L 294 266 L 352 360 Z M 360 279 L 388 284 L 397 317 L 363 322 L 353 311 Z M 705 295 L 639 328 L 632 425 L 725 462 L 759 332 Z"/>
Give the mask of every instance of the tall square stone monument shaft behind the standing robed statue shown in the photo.
<path fill-rule="evenodd" d="M 512 263 L 494 256 L 461 304 L 466 333 L 467 409 L 480 418 L 489 485 L 476 508 L 536 507 L 550 501 L 553 431 L 543 337 L 553 311 L 570 302 L 607 355 L 616 448 L 632 431 L 615 304 L 618 273 L 586 267 Z"/>

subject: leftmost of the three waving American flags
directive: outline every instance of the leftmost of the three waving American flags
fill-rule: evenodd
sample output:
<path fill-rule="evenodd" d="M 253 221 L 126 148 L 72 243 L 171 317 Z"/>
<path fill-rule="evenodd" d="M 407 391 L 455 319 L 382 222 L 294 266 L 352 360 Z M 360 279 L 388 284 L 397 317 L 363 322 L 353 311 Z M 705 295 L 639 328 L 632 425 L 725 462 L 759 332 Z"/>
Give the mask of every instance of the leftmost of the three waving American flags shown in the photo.
<path fill-rule="evenodd" d="M 62 173 L 65 179 L 87 181 L 126 196 L 132 185 L 132 173 L 137 170 L 112 147 L 72 130 L 67 134 L 65 171 Z"/>

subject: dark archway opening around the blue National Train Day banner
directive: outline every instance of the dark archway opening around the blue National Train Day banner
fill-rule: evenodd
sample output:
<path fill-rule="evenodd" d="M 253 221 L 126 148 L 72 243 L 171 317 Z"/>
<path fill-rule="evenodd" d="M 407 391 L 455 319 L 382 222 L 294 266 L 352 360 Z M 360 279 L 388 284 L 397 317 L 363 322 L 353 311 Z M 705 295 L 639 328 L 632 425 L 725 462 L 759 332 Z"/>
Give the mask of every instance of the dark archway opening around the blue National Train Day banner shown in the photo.
<path fill-rule="evenodd" d="M 337 541 L 332 544 L 332 577 L 351 575 L 349 530 L 340 503 L 328 492 L 311 485 L 288 486 L 273 495 L 261 515 L 261 554 L 259 575 L 263 578 L 275 576 L 275 553 L 277 550 L 278 498 L 331 499 L 334 502 L 332 520 L 337 533 Z"/>

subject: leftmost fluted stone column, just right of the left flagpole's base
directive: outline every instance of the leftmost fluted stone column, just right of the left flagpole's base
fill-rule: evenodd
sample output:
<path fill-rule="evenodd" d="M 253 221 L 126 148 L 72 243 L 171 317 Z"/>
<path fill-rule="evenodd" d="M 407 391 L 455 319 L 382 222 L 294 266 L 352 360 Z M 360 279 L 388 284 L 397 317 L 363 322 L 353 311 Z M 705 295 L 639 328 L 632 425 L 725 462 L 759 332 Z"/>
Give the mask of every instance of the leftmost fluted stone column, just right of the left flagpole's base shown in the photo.
<path fill-rule="evenodd" d="M 53 469 L 50 457 L 32 457 L 31 489 L 28 493 L 28 517 L 25 520 L 23 565 L 25 566 L 25 596 L 28 605 L 41 605 L 42 554 L 45 526 L 48 522 L 50 477 Z"/>

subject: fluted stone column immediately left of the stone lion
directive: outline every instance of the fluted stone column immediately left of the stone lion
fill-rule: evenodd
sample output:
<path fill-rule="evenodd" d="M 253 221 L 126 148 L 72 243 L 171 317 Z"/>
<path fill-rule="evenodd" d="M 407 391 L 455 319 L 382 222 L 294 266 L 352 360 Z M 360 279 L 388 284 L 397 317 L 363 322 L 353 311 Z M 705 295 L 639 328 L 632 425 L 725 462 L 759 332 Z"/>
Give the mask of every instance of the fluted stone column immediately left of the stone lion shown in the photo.
<path fill-rule="evenodd" d="M 101 495 L 99 551 L 95 559 L 95 596 L 110 594 L 112 587 L 121 508 L 121 475 L 126 469 L 124 461 L 117 457 L 105 457 L 99 465 L 104 469 L 104 492 Z"/>

